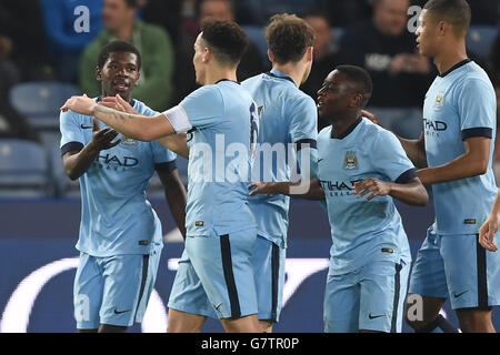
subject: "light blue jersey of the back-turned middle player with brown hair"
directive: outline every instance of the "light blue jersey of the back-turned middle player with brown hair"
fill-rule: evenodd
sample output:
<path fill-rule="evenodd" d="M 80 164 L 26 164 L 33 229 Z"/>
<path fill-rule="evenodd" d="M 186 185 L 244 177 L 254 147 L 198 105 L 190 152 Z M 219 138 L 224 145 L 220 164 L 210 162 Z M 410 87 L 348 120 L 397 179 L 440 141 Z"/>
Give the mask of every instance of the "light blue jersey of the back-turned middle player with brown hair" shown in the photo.
<path fill-rule="evenodd" d="M 311 154 L 307 156 L 310 156 L 310 170 L 314 172 L 318 138 L 314 101 L 300 91 L 289 75 L 278 70 L 250 78 L 242 87 L 250 92 L 260 112 L 259 148 L 252 180 L 290 181 L 297 161 L 294 150 L 290 149 L 292 143 L 297 144 L 297 151 L 309 144 Z M 284 247 L 290 197 L 258 194 L 249 202 L 258 223 L 258 234 Z"/>

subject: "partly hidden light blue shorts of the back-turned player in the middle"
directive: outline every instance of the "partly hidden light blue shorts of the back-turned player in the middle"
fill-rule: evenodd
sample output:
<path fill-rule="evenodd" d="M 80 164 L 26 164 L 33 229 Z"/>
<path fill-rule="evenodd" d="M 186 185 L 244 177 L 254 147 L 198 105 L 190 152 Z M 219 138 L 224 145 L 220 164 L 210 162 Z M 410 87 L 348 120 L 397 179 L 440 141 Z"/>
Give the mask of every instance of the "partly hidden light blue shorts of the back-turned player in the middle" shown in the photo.
<path fill-rule="evenodd" d="M 252 254 L 259 320 L 278 322 L 283 304 L 287 250 L 258 235 Z"/>

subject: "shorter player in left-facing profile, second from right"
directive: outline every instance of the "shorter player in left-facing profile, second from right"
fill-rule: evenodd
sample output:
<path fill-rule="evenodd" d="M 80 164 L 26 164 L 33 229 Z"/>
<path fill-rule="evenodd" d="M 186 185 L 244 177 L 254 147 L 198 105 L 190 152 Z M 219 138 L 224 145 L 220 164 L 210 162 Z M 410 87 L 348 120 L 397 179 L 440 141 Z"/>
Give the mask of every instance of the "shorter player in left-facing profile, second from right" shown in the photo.
<path fill-rule="evenodd" d="M 392 199 L 428 202 L 398 139 L 361 116 L 372 82 L 359 67 L 340 65 L 318 91 L 331 126 L 318 136 L 318 180 L 307 194 L 293 183 L 250 184 L 256 193 L 327 200 L 333 245 L 324 295 L 326 332 L 401 332 L 411 256 Z"/>

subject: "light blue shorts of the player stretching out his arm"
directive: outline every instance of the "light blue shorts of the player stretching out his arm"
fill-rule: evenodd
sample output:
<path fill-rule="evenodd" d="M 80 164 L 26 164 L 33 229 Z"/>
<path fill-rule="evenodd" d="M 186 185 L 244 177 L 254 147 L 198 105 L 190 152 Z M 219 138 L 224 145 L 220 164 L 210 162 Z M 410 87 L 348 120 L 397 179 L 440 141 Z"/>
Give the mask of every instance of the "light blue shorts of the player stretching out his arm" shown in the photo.
<path fill-rule="evenodd" d="M 218 318 L 257 314 L 251 264 L 256 237 L 256 229 L 226 235 L 188 235 L 169 307 Z"/>

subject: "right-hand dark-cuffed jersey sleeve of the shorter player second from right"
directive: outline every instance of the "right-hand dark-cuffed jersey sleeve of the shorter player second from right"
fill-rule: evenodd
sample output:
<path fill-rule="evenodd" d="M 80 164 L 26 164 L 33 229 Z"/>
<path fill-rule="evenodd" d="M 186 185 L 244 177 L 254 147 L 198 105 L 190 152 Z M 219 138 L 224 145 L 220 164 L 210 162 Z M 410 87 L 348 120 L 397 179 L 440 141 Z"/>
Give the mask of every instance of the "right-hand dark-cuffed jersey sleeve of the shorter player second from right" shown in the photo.
<path fill-rule="evenodd" d="M 417 170 L 396 135 L 386 130 L 379 131 L 378 135 L 372 148 L 376 170 L 397 183 L 417 178 Z"/>

